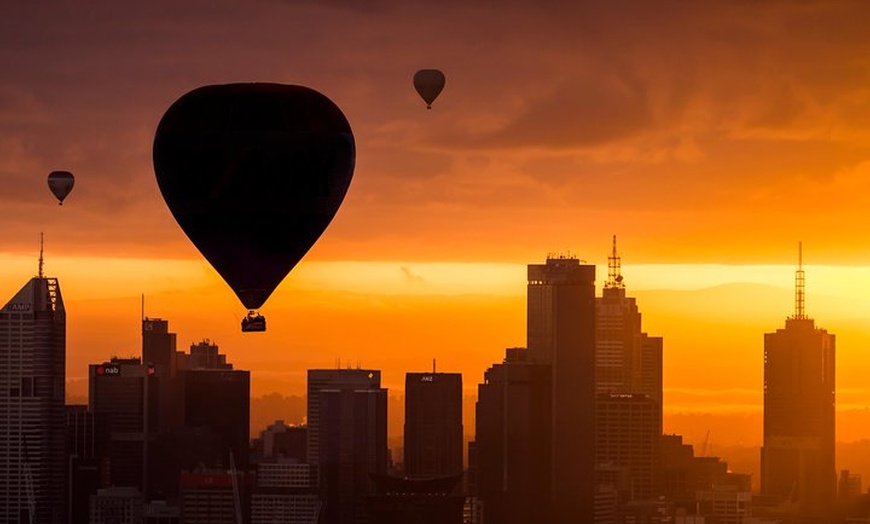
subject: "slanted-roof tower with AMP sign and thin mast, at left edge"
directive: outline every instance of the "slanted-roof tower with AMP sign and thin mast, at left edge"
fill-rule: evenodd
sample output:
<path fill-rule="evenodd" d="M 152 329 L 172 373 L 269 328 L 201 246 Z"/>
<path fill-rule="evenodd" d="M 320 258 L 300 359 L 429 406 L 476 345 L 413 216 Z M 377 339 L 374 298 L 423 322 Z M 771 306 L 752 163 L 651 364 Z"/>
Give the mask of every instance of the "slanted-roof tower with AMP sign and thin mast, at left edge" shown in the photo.
<path fill-rule="evenodd" d="M 39 275 L 0 309 L 0 522 L 65 522 L 65 351 L 60 286 L 40 253 Z"/>

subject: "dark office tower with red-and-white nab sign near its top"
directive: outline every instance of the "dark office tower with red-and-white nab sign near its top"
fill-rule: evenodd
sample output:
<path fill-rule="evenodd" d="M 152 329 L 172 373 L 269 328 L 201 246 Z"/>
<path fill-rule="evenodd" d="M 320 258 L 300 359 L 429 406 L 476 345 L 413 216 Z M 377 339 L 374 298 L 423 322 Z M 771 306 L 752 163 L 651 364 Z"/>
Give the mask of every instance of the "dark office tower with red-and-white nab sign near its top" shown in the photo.
<path fill-rule="evenodd" d="M 110 484 L 148 488 L 151 437 L 157 424 L 154 368 L 138 358 L 116 358 L 88 366 L 88 409 L 104 417 L 109 433 Z"/>

